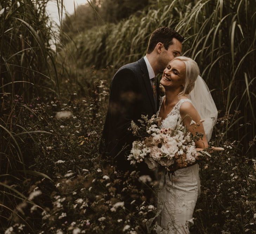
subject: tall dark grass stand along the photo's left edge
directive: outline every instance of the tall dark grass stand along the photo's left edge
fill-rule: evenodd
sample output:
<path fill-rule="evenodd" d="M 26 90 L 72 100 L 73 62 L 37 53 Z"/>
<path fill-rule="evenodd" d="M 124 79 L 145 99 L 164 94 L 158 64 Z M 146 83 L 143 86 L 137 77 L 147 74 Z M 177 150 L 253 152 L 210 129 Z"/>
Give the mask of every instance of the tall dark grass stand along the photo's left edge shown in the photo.
<path fill-rule="evenodd" d="M 29 147 L 40 155 L 38 137 L 51 134 L 26 125 L 29 115 L 43 118 L 28 103 L 38 96 L 55 96 L 58 87 L 50 45 L 54 32 L 46 4 L 0 0 L 0 227 L 12 222 L 13 214 L 27 223 L 22 206 L 34 204 L 24 195 L 28 178 L 50 179 L 28 167 L 31 159 L 26 154 L 26 142 L 30 142 Z"/>

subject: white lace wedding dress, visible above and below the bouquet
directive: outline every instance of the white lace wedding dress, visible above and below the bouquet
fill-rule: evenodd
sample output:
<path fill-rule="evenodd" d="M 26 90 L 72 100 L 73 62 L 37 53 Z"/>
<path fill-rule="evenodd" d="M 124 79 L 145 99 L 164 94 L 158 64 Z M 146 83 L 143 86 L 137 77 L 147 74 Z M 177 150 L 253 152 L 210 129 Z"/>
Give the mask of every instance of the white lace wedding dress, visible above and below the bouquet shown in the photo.
<path fill-rule="evenodd" d="M 159 115 L 163 99 L 160 100 Z M 172 111 L 162 121 L 161 128 L 175 129 L 180 124 L 180 106 L 190 99 L 179 100 Z M 191 102 L 192 103 L 192 102 Z M 200 194 L 199 165 L 178 169 L 170 181 L 168 174 L 165 175 L 163 209 L 158 217 L 157 233 L 181 234 L 190 233 L 189 227 L 193 225 L 193 211 L 197 198 Z"/>

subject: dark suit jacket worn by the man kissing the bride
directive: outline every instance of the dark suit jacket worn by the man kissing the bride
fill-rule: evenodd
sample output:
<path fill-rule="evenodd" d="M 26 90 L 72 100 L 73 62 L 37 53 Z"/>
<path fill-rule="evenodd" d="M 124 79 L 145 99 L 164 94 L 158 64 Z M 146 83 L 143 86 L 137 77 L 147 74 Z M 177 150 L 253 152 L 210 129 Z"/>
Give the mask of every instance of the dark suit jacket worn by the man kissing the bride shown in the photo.
<path fill-rule="evenodd" d="M 159 96 L 159 83 L 157 94 Z M 130 154 L 132 142 L 136 137 L 127 129 L 131 126 L 131 120 L 137 122 L 142 114 L 148 115 L 149 118 L 156 114 L 153 91 L 144 58 L 119 68 L 111 82 L 109 108 L 100 142 L 100 152 L 103 159 L 105 155 L 110 155 L 113 160 L 111 163 L 116 161 L 115 164 L 119 170 L 135 169 L 126 159 L 126 155 Z M 144 162 L 139 163 L 138 170 L 140 174 L 153 176 Z"/>

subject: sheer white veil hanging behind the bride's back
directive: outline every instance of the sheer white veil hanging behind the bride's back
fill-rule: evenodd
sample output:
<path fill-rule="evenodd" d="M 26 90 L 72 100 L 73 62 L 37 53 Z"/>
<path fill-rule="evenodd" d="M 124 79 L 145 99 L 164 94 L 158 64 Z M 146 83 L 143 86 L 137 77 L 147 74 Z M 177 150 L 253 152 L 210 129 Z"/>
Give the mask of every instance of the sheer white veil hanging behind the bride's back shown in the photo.
<path fill-rule="evenodd" d="M 217 122 L 218 110 L 212 99 L 210 90 L 201 76 L 198 76 L 195 87 L 188 95 L 196 108 L 201 119 L 204 120 L 203 126 L 207 141 L 211 139 L 212 129 Z"/>

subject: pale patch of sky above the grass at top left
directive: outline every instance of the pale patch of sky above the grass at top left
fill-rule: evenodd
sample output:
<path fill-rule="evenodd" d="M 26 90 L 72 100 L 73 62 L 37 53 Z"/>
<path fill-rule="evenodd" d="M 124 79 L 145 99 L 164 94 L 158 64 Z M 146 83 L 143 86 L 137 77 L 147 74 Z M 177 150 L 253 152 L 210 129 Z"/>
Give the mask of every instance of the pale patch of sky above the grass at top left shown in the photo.
<path fill-rule="evenodd" d="M 75 2 L 75 5 L 76 5 L 76 8 L 77 8 L 78 5 L 86 4 L 87 0 L 63 0 L 63 5 L 65 6 L 66 11 L 69 14 L 74 13 L 74 2 Z M 51 18 L 55 22 L 57 22 L 57 24 L 59 25 L 60 21 L 59 21 L 59 13 L 58 13 L 58 7 L 57 7 L 57 0 L 48 1 L 47 7 L 46 7 L 46 11 L 51 16 Z M 62 18 L 64 18 L 64 15 L 65 15 L 64 13 L 65 13 L 65 11 L 63 11 Z"/>

